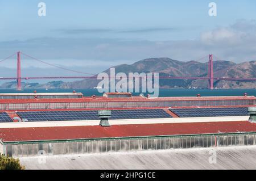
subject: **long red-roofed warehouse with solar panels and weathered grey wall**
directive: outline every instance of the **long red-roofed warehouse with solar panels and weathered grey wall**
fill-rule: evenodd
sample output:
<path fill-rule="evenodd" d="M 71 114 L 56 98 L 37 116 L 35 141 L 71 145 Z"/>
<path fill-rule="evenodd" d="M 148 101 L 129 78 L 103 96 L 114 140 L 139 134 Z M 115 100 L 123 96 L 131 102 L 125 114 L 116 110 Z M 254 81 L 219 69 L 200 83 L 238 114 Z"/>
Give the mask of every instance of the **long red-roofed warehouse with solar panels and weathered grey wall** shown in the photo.
<path fill-rule="evenodd" d="M 66 103 L 69 108 L 52 107 Z M 0 113 L 0 151 L 14 157 L 255 145 L 256 124 L 247 112 L 256 105 L 254 96 L 92 96 L 2 99 L 0 104 L 9 104 Z M 108 126 L 99 125 L 98 110 L 111 110 Z"/>

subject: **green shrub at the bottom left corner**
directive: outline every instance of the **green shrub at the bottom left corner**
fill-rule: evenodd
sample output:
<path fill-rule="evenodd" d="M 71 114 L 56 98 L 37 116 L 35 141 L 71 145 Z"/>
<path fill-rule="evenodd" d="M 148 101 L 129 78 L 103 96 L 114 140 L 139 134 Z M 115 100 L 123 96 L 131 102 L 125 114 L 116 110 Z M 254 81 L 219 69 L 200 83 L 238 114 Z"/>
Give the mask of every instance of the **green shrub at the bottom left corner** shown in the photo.
<path fill-rule="evenodd" d="M 19 159 L 0 154 L 0 170 L 24 170 L 25 167 L 20 165 Z"/>

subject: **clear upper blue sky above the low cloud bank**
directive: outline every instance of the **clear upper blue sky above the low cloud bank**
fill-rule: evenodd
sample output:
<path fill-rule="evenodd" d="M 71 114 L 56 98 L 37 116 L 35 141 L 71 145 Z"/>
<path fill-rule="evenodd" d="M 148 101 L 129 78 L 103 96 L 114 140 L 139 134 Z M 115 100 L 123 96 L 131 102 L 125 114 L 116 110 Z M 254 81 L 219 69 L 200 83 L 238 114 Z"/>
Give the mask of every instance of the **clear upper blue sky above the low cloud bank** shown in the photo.
<path fill-rule="evenodd" d="M 38 16 L 45 2 L 47 16 Z M 217 3 L 217 16 L 208 15 L 209 2 Z M 1 40 L 53 37 L 107 37 L 146 40 L 186 40 L 201 31 L 228 26 L 237 19 L 253 19 L 251 1 L 2 1 Z"/>

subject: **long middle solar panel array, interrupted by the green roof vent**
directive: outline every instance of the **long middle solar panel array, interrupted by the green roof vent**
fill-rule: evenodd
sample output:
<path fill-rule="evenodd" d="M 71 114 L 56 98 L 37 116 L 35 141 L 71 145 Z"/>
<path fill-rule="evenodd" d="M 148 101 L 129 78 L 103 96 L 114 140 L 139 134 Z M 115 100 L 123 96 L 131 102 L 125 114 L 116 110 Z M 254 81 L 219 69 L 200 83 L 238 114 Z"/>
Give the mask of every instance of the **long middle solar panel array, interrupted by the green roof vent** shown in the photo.
<path fill-rule="evenodd" d="M 98 111 L 28 111 L 17 112 L 28 121 L 99 120 Z M 112 110 L 110 119 L 170 118 L 166 111 L 157 110 Z"/>

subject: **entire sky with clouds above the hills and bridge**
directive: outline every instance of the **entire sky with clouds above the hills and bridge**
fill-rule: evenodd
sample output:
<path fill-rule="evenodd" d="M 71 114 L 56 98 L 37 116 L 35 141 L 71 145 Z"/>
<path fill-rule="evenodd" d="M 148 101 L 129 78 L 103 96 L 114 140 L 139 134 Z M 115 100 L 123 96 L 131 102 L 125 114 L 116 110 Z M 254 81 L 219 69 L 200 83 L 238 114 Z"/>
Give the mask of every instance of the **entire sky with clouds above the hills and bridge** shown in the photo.
<path fill-rule="evenodd" d="M 46 4 L 39 16 L 38 4 Z M 217 16 L 209 16 L 209 3 Z M 65 68 L 98 73 L 151 57 L 206 62 L 256 60 L 256 1 L 0 0 L 0 61 L 18 50 Z M 13 57 L 14 58 L 14 57 Z M 14 59 L 0 77 L 14 76 Z M 22 56 L 24 76 L 79 75 Z"/>

